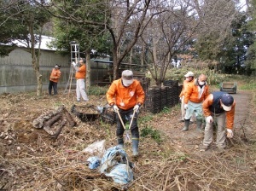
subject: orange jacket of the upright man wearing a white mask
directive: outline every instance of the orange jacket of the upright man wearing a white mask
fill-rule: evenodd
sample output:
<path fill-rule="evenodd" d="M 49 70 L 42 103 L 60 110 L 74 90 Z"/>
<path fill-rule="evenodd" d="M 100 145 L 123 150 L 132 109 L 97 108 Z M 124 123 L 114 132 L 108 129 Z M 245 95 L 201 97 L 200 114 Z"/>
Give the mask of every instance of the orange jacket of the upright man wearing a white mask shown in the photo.
<path fill-rule="evenodd" d="M 195 103 L 201 103 L 202 101 L 207 99 L 207 96 L 210 95 L 209 86 L 206 84 L 204 90 L 200 96 L 199 85 L 197 84 L 197 80 L 195 80 L 194 85 L 189 85 L 185 92 L 184 104 L 188 104 L 189 101 Z"/>

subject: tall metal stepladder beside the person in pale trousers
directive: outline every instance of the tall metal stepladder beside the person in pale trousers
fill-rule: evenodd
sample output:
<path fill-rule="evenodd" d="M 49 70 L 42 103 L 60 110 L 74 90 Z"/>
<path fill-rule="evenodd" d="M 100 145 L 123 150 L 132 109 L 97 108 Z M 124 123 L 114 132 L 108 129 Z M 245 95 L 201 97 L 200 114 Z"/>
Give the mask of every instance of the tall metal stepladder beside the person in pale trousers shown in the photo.
<path fill-rule="evenodd" d="M 64 94 L 68 94 L 67 97 L 69 98 L 69 95 L 71 91 L 76 90 L 76 78 L 75 78 L 75 73 L 76 70 L 72 64 L 72 62 L 78 63 L 80 54 L 79 54 L 79 43 L 71 42 L 70 43 L 70 71 L 69 71 L 69 77 L 66 85 L 66 89 L 64 90 Z"/>

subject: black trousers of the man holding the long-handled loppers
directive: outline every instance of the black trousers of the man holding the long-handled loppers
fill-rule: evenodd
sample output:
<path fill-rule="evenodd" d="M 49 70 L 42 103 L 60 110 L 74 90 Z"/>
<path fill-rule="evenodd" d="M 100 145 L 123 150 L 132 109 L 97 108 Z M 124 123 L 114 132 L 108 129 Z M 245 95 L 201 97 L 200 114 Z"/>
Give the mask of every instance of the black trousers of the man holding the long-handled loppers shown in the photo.
<path fill-rule="evenodd" d="M 133 107 L 129 110 L 123 110 L 119 108 L 119 113 L 121 118 L 123 119 L 124 124 L 126 124 L 129 127 L 131 123 L 131 118 L 133 114 Z M 117 129 L 116 129 L 116 136 L 122 137 L 124 135 L 125 129 L 123 125 L 121 124 L 121 121 L 119 120 L 119 115 L 116 113 L 116 119 L 117 119 Z M 135 113 L 134 118 L 132 120 L 131 124 L 131 136 L 132 138 L 139 138 L 139 130 L 137 126 L 137 113 Z"/>

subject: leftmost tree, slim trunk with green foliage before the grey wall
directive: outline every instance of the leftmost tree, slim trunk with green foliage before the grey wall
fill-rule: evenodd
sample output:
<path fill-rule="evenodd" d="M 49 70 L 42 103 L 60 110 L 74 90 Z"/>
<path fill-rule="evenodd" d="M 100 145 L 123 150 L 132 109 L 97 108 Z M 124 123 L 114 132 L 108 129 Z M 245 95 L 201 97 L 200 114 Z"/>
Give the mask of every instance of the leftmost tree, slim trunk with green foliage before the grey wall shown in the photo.
<path fill-rule="evenodd" d="M 43 82 L 42 74 L 39 72 L 40 45 L 42 29 L 44 24 L 49 21 L 49 14 L 46 14 L 42 9 L 38 9 L 37 4 L 30 0 L 7 1 L 4 13 L 5 21 L 15 20 L 15 23 L 18 25 L 17 28 L 20 30 L 19 35 L 15 36 L 15 39 L 18 38 L 17 40 L 26 45 L 26 51 L 32 55 L 32 67 L 36 73 L 38 84 L 37 96 L 41 96 Z M 2 24 L 4 25 L 5 22 Z M 9 39 L 14 40 L 14 38 Z M 37 44 L 38 47 L 36 48 Z"/>

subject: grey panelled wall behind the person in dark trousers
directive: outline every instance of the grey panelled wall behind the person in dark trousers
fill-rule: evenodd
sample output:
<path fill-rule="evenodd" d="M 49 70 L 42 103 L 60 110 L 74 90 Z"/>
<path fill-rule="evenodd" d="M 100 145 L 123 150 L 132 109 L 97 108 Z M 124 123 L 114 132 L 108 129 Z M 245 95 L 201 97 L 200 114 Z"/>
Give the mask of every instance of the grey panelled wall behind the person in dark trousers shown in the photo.
<path fill-rule="evenodd" d="M 55 64 L 61 65 L 59 87 L 67 84 L 69 75 L 69 56 L 55 54 L 54 51 L 41 50 L 40 72 L 43 75 L 43 88 L 47 90 L 49 75 Z M 32 68 L 31 54 L 23 48 L 13 50 L 9 56 L 0 57 L 0 93 L 36 90 L 37 78 Z"/>

